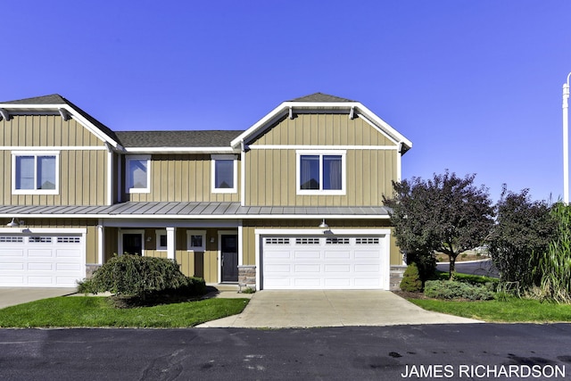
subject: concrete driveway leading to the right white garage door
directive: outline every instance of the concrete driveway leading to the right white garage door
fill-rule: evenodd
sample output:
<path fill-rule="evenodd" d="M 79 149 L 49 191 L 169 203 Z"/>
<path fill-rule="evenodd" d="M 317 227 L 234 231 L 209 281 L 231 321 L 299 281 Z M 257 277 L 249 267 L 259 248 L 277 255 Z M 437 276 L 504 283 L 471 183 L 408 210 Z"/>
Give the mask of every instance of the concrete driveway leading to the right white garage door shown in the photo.
<path fill-rule="evenodd" d="M 224 293 L 221 293 L 224 294 Z M 481 323 L 425 311 L 390 291 L 258 291 L 244 311 L 197 327 L 345 327 Z"/>

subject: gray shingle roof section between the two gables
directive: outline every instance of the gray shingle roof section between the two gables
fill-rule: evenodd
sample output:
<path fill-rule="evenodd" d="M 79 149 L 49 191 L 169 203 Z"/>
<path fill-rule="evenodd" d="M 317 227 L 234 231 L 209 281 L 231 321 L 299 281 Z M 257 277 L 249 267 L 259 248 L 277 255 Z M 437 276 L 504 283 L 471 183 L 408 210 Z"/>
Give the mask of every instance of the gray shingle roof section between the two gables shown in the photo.
<path fill-rule="evenodd" d="M 229 147 L 243 131 L 117 131 L 124 147 Z"/>

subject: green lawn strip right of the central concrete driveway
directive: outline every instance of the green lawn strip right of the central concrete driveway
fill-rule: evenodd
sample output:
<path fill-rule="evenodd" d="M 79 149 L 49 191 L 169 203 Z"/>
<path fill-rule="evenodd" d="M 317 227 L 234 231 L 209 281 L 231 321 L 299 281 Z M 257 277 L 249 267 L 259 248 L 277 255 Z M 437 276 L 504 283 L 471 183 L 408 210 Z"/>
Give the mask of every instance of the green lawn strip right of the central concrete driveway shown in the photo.
<path fill-rule="evenodd" d="M 427 311 L 443 312 L 488 322 L 553 323 L 571 321 L 571 305 L 509 298 L 507 301 L 451 302 L 409 299 Z"/>

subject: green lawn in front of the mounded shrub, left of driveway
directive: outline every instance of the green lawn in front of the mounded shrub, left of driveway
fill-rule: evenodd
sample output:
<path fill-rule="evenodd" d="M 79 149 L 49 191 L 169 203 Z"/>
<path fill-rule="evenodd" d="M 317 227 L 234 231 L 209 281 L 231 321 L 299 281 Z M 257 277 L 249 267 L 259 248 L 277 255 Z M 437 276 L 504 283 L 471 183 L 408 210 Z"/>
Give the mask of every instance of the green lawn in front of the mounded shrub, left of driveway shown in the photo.
<path fill-rule="evenodd" d="M 0 310 L 0 327 L 194 327 L 236 315 L 248 299 L 206 299 L 116 309 L 101 296 L 62 296 Z"/>

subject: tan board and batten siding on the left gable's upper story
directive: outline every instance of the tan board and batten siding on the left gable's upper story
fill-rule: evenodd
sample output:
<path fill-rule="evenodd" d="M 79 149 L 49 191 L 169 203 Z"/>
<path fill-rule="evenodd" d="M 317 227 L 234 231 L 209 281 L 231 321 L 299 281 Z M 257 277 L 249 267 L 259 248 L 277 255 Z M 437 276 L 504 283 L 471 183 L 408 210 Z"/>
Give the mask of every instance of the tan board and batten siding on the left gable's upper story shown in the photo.
<path fill-rule="evenodd" d="M 11 205 L 104 205 L 107 187 L 107 150 L 103 141 L 76 120 L 62 120 L 60 115 L 15 115 L 0 121 L 0 145 L 6 147 L 88 146 L 95 150 L 56 149 L 59 151 L 58 195 L 12 195 L 12 177 L 0 178 L 4 199 Z M 19 151 L 13 148 L 13 151 Z M 12 168 L 12 150 L 0 155 L 0 166 Z"/>

